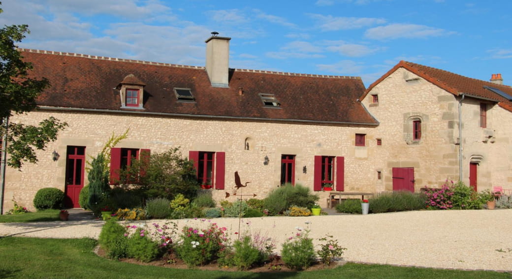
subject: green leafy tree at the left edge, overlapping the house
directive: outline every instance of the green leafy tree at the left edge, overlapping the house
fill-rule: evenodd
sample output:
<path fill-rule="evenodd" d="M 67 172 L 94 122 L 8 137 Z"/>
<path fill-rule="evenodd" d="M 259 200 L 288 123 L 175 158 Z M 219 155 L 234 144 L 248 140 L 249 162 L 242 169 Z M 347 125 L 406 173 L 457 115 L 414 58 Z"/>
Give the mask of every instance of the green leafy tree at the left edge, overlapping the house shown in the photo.
<path fill-rule="evenodd" d="M 24 161 L 37 162 L 34 148 L 44 150 L 49 142 L 57 139 L 57 133 L 68 125 L 53 117 L 42 120 L 38 126 L 9 123 L 9 117 L 13 114 L 34 110 L 37 96 L 50 86 L 46 78 L 29 77 L 32 64 L 23 61 L 17 50 L 16 43 L 29 33 L 27 25 L 0 29 L 0 134 L 8 143 L 6 151 L 10 156 L 7 165 L 15 169 L 21 168 Z"/>

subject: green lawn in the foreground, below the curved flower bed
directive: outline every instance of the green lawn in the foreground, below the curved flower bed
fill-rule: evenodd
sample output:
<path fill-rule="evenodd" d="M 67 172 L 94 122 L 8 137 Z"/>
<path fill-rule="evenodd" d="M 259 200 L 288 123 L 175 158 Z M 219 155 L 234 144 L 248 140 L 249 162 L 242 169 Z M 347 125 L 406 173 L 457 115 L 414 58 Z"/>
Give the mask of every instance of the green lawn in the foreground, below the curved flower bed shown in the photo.
<path fill-rule="evenodd" d="M 251 273 L 139 266 L 103 259 L 92 239 L 0 238 L 0 278 L 512 278 L 510 273 L 346 264 L 322 271 Z"/>

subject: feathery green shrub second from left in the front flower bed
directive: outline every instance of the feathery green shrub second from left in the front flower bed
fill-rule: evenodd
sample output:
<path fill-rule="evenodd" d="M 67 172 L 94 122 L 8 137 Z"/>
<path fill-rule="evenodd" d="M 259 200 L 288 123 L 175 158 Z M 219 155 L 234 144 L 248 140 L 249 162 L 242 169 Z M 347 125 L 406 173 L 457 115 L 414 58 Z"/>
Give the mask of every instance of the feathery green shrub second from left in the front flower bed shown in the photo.
<path fill-rule="evenodd" d="M 159 244 L 150 238 L 143 228 L 138 228 L 128 239 L 128 257 L 147 263 L 157 258 L 160 253 Z"/>

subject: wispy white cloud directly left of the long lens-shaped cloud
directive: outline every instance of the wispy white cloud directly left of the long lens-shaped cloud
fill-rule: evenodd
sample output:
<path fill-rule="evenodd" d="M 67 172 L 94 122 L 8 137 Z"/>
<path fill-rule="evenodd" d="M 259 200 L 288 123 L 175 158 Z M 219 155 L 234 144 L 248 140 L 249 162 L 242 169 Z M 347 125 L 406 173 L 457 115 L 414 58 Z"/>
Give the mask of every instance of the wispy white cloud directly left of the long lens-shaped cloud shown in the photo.
<path fill-rule="evenodd" d="M 385 24 L 386 19 L 372 17 L 334 17 L 332 15 L 309 14 L 318 21 L 322 31 L 358 29 L 378 24 Z"/>

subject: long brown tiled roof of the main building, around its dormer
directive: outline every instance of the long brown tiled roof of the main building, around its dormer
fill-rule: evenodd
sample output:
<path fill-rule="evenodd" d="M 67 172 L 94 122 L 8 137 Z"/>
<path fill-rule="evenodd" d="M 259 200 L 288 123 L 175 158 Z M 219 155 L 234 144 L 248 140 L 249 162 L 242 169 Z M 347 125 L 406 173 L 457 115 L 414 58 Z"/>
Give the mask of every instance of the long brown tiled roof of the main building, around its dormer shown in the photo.
<path fill-rule="evenodd" d="M 144 83 L 144 112 L 254 120 L 377 125 L 357 102 L 365 91 L 360 78 L 230 70 L 229 88 L 212 87 L 204 67 L 20 50 L 32 74 L 51 87 L 41 107 L 130 111 L 120 108 L 115 87 L 132 74 Z M 195 103 L 178 102 L 173 89 L 190 88 Z M 243 95 L 239 95 L 242 88 Z M 259 94 L 274 94 L 280 108 L 263 106 Z M 133 109 L 132 109 L 133 110 Z"/>

